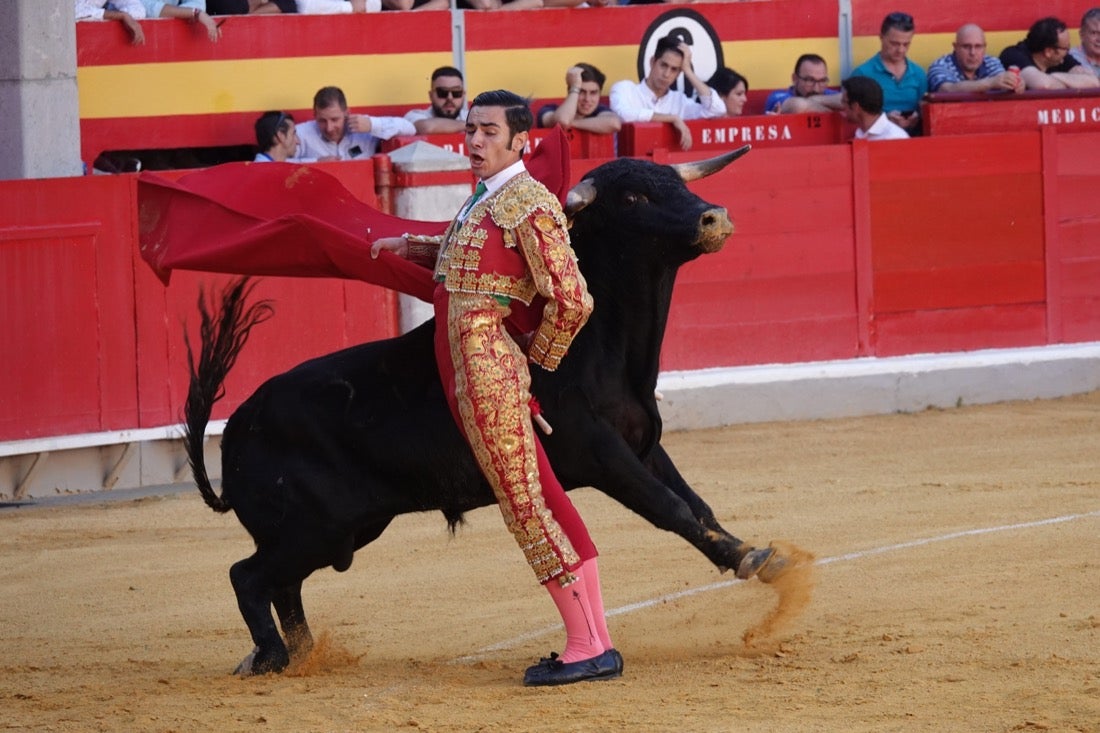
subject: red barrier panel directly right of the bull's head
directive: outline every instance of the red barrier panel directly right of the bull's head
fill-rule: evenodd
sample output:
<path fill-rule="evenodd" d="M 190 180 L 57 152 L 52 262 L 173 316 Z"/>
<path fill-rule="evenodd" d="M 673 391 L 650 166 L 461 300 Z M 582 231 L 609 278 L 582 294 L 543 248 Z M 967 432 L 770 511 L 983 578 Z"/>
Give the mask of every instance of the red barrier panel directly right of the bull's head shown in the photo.
<path fill-rule="evenodd" d="M 661 368 L 858 355 L 851 185 L 847 145 L 752 151 L 691 184 L 735 232 L 680 271 Z"/>

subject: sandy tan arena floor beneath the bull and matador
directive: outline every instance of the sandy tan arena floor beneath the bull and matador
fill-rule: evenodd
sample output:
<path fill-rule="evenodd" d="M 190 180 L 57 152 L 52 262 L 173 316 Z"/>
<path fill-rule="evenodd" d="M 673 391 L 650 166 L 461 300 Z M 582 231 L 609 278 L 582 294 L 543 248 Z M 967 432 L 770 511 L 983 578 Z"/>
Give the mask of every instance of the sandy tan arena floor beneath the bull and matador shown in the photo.
<path fill-rule="evenodd" d="M 495 508 L 454 538 L 403 517 L 317 573 L 312 658 L 239 679 L 232 514 L 6 508 L 0 730 L 1100 731 L 1100 393 L 664 445 L 728 529 L 816 556 L 801 615 L 769 635 L 774 588 L 583 490 L 623 679 L 520 686 L 562 634 Z"/>

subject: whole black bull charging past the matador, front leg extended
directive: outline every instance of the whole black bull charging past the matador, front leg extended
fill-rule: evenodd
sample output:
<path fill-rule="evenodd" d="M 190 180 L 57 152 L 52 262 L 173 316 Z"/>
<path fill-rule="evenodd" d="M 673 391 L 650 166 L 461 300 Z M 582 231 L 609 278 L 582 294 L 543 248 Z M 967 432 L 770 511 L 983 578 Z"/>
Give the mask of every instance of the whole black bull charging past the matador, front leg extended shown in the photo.
<path fill-rule="evenodd" d="M 654 395 L 676 271 L 733 232 L 725 209 L 684 182 L 745 150 L 679 167 L 618 160 L 570 193 L 573 247 L 596 306 L 557 371 L 532 369 L 531 391 L 552 425 L 541 439 L 566 490 L 594 486 L 721 570 L 772 580 L 785 558 L 718 524 L 661 447 Z M 272 313 L 266 303 L 246 304 L 250 289 L 237 281 L 215 316 L 200 303 L 202 347 L 186 406 L 204 499 L 216 511 L 232 508 L 256 545 L 230 570 L 255 643 L 242 674 L 282 670 L 309 649 L 301 583 L 315 570 L 346 570 L 399 514 L 439 510 L 453 529 L 464 512 L 495 503 L 448 409 L 431 321 L 268 380 L 226 425 L 215 493 L 202 457 L 212 403 L 251 327 Z"/>

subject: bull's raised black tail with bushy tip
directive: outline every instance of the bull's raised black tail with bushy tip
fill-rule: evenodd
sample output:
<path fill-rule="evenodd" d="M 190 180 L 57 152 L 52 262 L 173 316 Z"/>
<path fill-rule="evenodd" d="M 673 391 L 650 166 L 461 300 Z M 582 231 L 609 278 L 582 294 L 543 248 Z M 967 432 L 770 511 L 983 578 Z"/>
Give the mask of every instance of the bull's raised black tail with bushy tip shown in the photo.
<path fill-rule="evenodd" d="M 190 371 L 190 385 L 187 390 L 187 404 L 184 406 L 184 441 L 187 458 L 191 466 L 195 483 L 202 494 L 204 501 L 215 512 L 228 512 L 229 502 L 215 493 L 207 475 L 206 457 L 202 453 L 202 441 L 210 413 L 216 402 L 226 395 L 226 375 L 237 363 L 237 357 L 249 340 L 252 327 L 271 318 L 275 310 L 270 300 L 261 300 L 248 305 L 249 296 L 255 286 L 248 277 L 232 281 L 221 292 L 219 298 L 211 298 L 208 304 L 206 294 L 199 292 L 199 326 L 202 348 L 199 351 L 198 366 L 191 350 L 191 340 L 184 332 L 187 344 L 187 368 Z M 211 310 L 217 313 L 211 315 Z"/>

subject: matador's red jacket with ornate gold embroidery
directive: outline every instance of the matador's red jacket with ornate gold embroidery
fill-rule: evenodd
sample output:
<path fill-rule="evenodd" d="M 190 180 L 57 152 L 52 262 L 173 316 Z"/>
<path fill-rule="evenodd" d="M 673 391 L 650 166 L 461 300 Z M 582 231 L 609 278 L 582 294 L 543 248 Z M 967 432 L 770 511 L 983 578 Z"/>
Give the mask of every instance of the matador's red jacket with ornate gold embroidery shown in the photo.
<path fill-rule="evenodd" d="M 435 259 L 450 293 L 547 299 L 528 359 L 554 370 L 592 313 L 561 204 L 524 172 L 474 204 L 441 237 L 409 237 L 410 260 Z"/>

